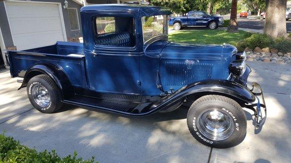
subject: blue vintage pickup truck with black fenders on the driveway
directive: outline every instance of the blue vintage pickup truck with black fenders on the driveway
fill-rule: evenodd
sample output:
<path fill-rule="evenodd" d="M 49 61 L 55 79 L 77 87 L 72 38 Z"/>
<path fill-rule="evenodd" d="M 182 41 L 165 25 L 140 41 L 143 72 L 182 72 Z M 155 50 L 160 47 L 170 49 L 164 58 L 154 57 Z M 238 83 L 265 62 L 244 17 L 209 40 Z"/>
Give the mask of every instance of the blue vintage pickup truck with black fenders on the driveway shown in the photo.
<path fill-rule="evenodd" d="M 83 44 L 7 51 L 11 76 L 23 77 L 19 89 L 27 88 L 42 113 L 66 103 L 141 117 L 184 104 L 195 139 L 215 148 L 238 145 L 246 135 L 243 107 L 254 111 L 256 127 L 266 119 L 259 84 L 247 88 L 246 54 L 229 44 L 168 41 L 170 14 L 155 6 L 82 7 Z M 149 18 L 152 27 L 145 26 Z"/>

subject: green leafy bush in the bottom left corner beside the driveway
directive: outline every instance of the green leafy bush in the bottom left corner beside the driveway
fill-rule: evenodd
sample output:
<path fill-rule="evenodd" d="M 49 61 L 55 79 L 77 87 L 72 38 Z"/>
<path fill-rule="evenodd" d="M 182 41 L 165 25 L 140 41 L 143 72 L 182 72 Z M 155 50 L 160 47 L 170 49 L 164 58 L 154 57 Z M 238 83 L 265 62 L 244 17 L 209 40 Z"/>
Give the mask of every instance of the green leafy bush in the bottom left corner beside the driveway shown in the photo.
<path fill-rule="evenodd" d="M 55 150 L 37 152 L 2 133 L 0 134 L 0 163 L 94 163 L 94 157 L 83 160 L 77 158 L 77 152 L 74 152 L 73 156 L 68 155 L 64 158 L 59 157 Z"/>

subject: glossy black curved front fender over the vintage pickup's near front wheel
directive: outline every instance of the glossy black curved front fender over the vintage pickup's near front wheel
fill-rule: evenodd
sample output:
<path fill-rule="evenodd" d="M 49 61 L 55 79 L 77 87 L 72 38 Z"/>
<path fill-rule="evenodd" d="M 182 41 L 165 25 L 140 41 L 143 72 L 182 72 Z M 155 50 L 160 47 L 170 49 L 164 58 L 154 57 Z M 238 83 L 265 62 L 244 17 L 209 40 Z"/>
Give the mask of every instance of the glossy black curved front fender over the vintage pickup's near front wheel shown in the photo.
<path fill-rule="evenodd" d="M 255 95 L 248 88 L 229 80 L 203 80 L 189 84 L 178 89 L 169 96 L 165 96 L 161 101 L 151 104 L 144 109 L 143 113 L 131 113 L 132 116 L 148 115 L 157 111 L 166 110 L 189 97 L 199 98 L 204 95 L 218 94 L 229 97 L 239 104 L 255 102 Z"/>

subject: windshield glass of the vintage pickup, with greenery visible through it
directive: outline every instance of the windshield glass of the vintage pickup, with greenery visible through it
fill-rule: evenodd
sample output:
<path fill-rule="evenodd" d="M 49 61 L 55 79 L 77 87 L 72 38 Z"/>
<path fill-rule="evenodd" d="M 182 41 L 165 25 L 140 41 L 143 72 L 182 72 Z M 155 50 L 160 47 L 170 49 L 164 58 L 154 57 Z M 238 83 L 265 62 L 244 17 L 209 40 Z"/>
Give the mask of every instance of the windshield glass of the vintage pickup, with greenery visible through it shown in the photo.
<path fill-rule="evenodd" d="M 144 43 L 151 38 L 168 34 L 168 15 L 142 17 Z"/>

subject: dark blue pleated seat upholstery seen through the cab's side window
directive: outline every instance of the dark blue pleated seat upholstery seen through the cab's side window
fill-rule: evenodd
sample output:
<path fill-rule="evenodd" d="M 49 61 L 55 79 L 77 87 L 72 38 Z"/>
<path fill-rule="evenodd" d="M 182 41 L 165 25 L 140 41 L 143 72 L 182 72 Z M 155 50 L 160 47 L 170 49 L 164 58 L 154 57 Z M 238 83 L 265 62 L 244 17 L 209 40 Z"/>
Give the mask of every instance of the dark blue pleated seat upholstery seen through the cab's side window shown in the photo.
<path fill-rule="evenodd" d="M 108 33 L 97 36 L 96 44 L 108 46 L 131 46 L 129 32 Z"/>

